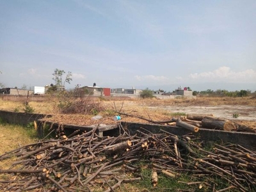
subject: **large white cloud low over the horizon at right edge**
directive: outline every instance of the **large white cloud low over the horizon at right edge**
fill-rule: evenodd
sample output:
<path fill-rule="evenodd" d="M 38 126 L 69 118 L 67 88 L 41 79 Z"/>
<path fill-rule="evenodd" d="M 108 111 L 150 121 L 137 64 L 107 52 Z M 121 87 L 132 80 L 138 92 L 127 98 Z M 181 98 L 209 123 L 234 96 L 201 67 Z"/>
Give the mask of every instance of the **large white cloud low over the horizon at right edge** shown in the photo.
<path fill-rule="evenodd" d="M 205 82 L 225 81 L 228 83 L 254 83 L 256 82 L 256 71 L 248 69 L 240 72 L 234 72 L 230 67 L 224 66 L 212 72 L 189 74 L 189 78 Z"/>

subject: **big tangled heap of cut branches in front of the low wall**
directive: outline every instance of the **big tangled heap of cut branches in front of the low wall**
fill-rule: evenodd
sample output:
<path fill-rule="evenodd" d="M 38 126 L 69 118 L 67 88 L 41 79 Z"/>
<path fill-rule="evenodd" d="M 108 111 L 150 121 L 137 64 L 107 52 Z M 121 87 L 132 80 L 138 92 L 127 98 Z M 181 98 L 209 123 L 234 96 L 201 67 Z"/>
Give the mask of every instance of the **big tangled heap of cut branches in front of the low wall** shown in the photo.
<path fill-rule="evenodd" d="M 96 134 L 97 128 L 58 139 L 42 140 L 6 152 L 0 160 L 15 159 L 0 174 L 0 191 L 115 191 L 125 182 L 141 179 L 138 162 L 147 161 L 152 169 L 152 186 L 163 174 L 177 178 L 180 173 L 220 177 L 239 191 L 256 189 L 256 152 L 240 145 L 214 144 L 212 152 L 193 134 L 176 136 L 141 127 L 134 135 L 120 124 L 117 137 Z M 129 177 L 127 177 L 129 175 Z M 214 182 L 192 182 L 215 191 Z"/>

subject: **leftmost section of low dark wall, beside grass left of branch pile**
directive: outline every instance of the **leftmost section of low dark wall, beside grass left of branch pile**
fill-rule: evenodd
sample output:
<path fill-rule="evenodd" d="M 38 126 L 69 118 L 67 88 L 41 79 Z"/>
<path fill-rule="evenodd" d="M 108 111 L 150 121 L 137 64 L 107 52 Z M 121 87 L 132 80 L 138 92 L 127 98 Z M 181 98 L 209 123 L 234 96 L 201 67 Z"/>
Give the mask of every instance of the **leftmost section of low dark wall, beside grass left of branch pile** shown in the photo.
<path fill-rule="evenodd" d="M 0 118 L 8 124 L 28 125 L 29 123 L 37 121 L 38 119 L 45 116 L 49 115 L 35 113 L 17 113 L 12 111 L 0 110 Z"/>

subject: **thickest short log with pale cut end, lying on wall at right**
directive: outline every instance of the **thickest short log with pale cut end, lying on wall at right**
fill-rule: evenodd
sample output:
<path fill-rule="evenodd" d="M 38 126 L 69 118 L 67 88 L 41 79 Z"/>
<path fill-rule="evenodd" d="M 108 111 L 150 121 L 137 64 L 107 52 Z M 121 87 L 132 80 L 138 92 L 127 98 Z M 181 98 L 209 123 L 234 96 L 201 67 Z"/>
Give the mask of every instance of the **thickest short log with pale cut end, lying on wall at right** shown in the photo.
<path fill-rule="evenodd" d="M 236 125 L 229 120 L 210 120 L 208 118 L 202 119 L 202 127 L 207 129 L 220 129 L 224 131 L 234 131 L 237 129 Z"/>

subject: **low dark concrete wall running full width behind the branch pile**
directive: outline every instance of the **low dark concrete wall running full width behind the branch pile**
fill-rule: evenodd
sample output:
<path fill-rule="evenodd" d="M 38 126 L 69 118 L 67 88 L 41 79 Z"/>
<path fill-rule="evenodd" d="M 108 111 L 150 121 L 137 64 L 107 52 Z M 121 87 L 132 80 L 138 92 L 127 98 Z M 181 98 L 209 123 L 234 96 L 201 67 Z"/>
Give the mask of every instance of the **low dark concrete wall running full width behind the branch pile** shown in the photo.
<path fill-rule="evenodd" d="M 30 122 L 38 121 L 40 118 L 45 117 L 44 114 L 33 114 L 33 113 L 15 113 L 10 111 L 2 111 L 0 110 L 1 118 L 8 122 L 9 124 L 22 124 L 27 125 Z M 56 124 L 57 125 L 57 124 Z M 168 125 L 153 125 L 153 124 L 137 124 L 132 122 L 122 122 L 123 127 L 125 129 L 129 129 L 129 132 L 132 134 L 136 134 L 137 130 L 140 130 L 141 127 L 147 129 L 152 133 L 160 132 L 161 129 L 164 131 L 168 131 L 172 134 L 176 134 L 177 136 L 182 136 L 184 134 L 188 134 L 191 131 L 181 127 L 174 127 Z M 76 129 L 89 129 L 86 126 L 76 126 L 76 125 L 67 125 L 67 128 L 76 128 Z M 102 130 L 103 131 L 103 130 Z M 118 131 L 115 131 L 118 132 Z M 212 129 L 200 129 L 198 132 L 194 132 L 195 136 L 200 136 L 201 140 L 204 141 L 221 141 L 221 142 L 230 142 L 237 143 L 244 147 L 248 148 L 256 148 L 256 134 L 250 132 L 228 132 L 228 131 L 220 131 L 220 130 L 212 130 Z"/>

